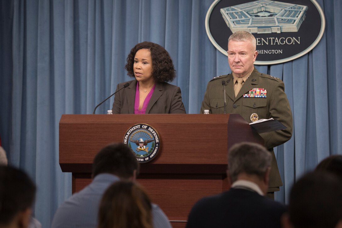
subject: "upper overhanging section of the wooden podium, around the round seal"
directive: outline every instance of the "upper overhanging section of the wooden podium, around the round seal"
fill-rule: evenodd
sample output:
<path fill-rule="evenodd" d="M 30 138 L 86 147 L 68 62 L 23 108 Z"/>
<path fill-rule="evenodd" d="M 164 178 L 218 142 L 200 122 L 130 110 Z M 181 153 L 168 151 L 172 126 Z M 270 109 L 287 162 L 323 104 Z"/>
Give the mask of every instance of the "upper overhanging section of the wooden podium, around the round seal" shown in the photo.
<path fill-rule="evenodd" d="M 139 123 L 154 127 L 161 138 L 158 156 L 149 164 L 226 165 L 227 150 L 234 143 L 263 143 L 238 114 L 62 115 L 59 148 L 63 172 L 88 169 L 102 147 L 122 142 L 126 131 Z"/>

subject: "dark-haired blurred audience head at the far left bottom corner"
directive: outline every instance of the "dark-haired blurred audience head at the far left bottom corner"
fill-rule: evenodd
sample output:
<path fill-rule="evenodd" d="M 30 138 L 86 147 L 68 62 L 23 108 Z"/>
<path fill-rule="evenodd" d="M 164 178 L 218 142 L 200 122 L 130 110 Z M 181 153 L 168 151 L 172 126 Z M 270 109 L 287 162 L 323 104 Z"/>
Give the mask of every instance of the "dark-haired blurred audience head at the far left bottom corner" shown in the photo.
<path fill-rule="evenodd" d="M 28 227 L 36 186 L 22 170 L 0 165 L 0 227 Z"/>

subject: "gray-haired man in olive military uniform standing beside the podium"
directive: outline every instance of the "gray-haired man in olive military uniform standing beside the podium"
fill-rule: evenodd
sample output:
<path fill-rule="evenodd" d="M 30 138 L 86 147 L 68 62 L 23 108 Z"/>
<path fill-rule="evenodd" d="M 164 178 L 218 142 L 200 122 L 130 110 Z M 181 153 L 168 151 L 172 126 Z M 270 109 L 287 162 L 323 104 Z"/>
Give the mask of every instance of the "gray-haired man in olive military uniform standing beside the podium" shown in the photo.
<path fill-rule="evenodd" d="M 291 138 L 292 113 L 284 92 L 284 83 L 279 78 L 259 73 L 255 69 L 254 61 L 258 55 L 256 43 L 255 37 L 247 31 L 237 31 L 229 37 L 227 52 L 232 73 L 209 81 L 200 112 L 209 110 L 213 114 L 240 114 L 248 123 L 274 118 L 287 127 L 260 134 L 265 147 L 273 156 L 267 190 L 272 198 L 273 193 L 282 186 L 273 147 Z"/>

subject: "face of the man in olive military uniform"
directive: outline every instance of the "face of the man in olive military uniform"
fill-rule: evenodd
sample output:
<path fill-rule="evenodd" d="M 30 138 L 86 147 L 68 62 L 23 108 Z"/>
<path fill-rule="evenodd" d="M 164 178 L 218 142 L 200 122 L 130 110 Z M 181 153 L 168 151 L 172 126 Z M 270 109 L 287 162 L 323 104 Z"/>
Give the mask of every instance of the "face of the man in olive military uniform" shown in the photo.
<path fill-rule="evenodd" d="M 253 50 L 251 42 L 235 41 L 228 42 L 228 63 L 234 75 L 244 77 L 253 69 L 253 64 L 258 52 Z"/>

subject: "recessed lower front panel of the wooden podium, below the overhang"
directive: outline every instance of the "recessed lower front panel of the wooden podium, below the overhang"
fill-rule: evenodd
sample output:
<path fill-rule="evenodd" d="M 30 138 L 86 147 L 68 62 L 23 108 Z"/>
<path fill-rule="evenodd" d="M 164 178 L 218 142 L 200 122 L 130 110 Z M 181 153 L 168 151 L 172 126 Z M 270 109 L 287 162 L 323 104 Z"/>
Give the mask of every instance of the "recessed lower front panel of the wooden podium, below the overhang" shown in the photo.
<path fill-rule="evenodd" d="M 90 175 L 73 174 L 76 192 L 91 182 Z M 159 205 L 169 220 L 186 221 L 192 206 L 199 199 L 227 190 L 225 175 L 141 174 L 140 183 L 153 203 Z M 183 222 L 184 223 L 184 222 Z M 184 227 L 185 223 L 175 222 Z"/>

